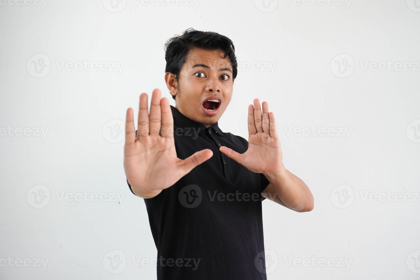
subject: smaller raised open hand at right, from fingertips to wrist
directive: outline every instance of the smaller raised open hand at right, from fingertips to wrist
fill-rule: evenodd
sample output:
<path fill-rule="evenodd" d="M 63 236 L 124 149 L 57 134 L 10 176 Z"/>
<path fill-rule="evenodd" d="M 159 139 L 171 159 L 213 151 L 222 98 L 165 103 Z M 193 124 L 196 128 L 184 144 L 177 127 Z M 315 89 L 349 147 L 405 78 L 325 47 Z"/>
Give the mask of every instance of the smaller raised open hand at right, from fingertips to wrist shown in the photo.
<path fill-rule="evenodd" d="M 283 171 L 283 153 L 277 136 L 276 120 L 273 112 L 268 111 L 268 103 L 254 99 L 248 106 L 248 149 L 243 154 L 222 146 L 220 152 L 255 173 L 273 177 Z"/>

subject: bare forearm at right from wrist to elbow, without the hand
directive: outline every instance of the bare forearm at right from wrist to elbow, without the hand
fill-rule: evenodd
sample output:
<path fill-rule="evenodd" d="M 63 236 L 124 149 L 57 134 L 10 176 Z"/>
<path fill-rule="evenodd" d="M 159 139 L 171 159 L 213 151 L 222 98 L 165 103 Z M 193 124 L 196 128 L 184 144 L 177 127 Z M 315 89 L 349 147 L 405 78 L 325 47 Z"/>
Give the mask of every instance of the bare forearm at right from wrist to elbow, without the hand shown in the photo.
<path fill-rule="evenodd" d="M 307 212 L 313 209 L 314 198 L 310 189 L 284 165 L 277 173 L 264 175 L 287 207 L 297 212 Z"/>

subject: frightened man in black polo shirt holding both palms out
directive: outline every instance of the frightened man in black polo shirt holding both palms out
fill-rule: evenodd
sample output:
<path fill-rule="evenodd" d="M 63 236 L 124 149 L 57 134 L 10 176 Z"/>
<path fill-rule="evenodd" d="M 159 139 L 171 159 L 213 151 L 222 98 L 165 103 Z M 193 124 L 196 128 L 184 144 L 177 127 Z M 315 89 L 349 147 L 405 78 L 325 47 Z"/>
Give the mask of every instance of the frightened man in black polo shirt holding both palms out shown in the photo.
<path fill-rule="evenodd" d="M 142 93 L 137 131 L 126 112 L 124 146 L 127 183 L 144 198 L 157 248 L 157 279 L 267 279 L 261 201 L 306 212 L 312 194 L 283 165 L 267 102 L 248 107 L 248 141 L 218 127 L 237 74 L 230 39 L 187 29 L 165 52 L 176 106 L 155 89 L 149 113 Z"/>

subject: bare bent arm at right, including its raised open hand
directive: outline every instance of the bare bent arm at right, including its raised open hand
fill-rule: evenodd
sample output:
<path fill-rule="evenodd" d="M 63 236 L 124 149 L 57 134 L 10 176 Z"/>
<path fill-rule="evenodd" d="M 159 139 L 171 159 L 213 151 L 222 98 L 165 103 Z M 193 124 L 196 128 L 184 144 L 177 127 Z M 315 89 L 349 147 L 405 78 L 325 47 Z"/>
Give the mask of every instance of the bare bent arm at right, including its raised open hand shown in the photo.
<path fill-rule="evenodd" d="M 283 153 L 277 135 L 274 114 L 268 111 L 268 103 L 254 99 L 254 105 L 248 107 L 248 149 L 239 154 L 228 147 L 220 147 L 228 157 L 248 170 L 262 173 L 270 184 L 262 196 L 297 212 L 313 209 L 311 191 L 297 176 L 286 170 L 283 165 Z"/>

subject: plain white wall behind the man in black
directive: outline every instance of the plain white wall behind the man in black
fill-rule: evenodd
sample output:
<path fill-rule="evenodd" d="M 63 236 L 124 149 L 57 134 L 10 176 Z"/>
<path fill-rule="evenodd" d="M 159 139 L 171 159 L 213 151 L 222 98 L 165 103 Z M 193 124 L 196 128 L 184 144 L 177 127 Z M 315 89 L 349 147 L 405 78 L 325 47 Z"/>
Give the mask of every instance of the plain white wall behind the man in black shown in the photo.
<path fill-rule="evenodd" d="M 174 105 L 163 44 L 189 27 L 236 47 L 220 128 L 247 138 L 247 105 L 267 101 L 284 165 L 315 197 L 306 213 L 263 202 L 268 279 L 420 277 L 418 0 L 102 2 L 0 0 L 1 279 L 156 278 L 118 131 L 142 92 L 159 88 Z M 84 60 L 123 68 L 60 67 Z M 106 201 L 62 197 L 84 191 Z"/>

